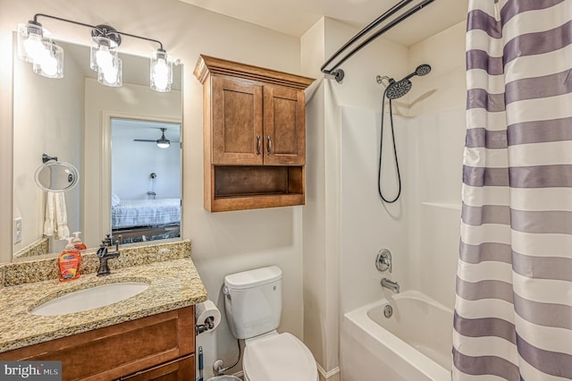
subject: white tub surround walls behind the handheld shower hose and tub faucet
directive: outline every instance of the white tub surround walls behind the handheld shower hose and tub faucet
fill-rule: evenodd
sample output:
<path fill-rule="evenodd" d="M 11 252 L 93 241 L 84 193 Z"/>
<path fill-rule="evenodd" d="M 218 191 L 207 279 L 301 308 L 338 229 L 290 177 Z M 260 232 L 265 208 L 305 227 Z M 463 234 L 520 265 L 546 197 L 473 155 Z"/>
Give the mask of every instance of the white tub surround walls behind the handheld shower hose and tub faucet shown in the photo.
<path fill-rule="evenodd" d="M 465 138 L 464 27 L 461 22 L 401 55 L 407 72 L 421 63 L 431 64 L 433 70 L 413 77 L 412 90 L 399 99 L 400 113 L 411 117 L 394 117 L 402 181 L 402 195 L 395 204 L 382 203 L 375 188 L 380 109 L 362 104 L 341 107 L 342 312 L 383 294 L 391 296 L 379 285 L 383 276 L 398 281 L 402 291 L 420 290 L 453 306 Z M 379 73 L 399 80 L 407 72 Z M 381 96 L 378 99 L 381 105 Z M 396 190 L 389 129 L 386 114 L 382 170 L 386 198 Z M 375 253 L 382 248 L 391 250 L 392 274 L 374 268 Z"/>

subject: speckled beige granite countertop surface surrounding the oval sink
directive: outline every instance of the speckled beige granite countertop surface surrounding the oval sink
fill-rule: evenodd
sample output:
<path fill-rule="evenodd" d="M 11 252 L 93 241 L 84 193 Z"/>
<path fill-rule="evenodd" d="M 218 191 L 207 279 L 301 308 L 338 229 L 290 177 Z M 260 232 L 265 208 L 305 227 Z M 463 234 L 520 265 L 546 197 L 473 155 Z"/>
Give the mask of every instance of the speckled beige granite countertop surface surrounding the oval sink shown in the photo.
<path fill-rule="evenodd" d="M 188 254 L 189 255 L 189 254 Z M 110 265 L 112 260 L 110 260 Z M 30 313 L 46 301 L 95 285 L 121 282 L 149 284 L 144 292 L 125 301 L 60 316 Z M 60 283 L 57 279 L 17 284 L 0 289 L 0 352 L 43 343 L 125 321 L 145 318 L 206 301 L 206 289 L 191 258 L 112 269 L 111 275 L 95 273 Z"/>

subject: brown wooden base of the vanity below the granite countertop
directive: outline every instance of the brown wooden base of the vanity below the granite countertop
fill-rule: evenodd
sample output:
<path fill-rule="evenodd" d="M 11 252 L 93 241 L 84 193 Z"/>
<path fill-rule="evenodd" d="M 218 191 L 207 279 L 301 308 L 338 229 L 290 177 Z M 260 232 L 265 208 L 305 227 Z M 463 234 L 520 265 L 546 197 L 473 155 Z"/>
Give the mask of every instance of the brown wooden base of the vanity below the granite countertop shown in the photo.
<path fill-rule="evenodd" d="M 63 380 L 194 380 L 195 309 L 176 309 L 6 351 L 0 360 L 62 361 Z"/>

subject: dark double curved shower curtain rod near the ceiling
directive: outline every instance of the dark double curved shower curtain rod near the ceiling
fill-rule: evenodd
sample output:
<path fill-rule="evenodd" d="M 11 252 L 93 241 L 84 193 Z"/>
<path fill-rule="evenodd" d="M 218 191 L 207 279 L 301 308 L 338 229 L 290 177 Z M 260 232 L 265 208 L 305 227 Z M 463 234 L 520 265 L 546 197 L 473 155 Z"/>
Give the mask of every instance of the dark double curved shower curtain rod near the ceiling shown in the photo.
<path fill-rule="evenodd" d="M 338 61 L 337 63 L 335 63 L 334 65 L 332 65 L 332 68 L 327 70 L 326 67 L 328 65 L 330 65 L 330 63 L 332 63 L 332 61 L 334 61 L 336 58 L 338 58 L 342 53 L 344 53 L 345 51 L 347 51 L 349 49 L 349 47 L 351 47 L 352 45 L 357 44 L 357 41 L 361 38 L 363 38 L 364 36 L 366 36 L 366 34 L 372 32 L 372 30 L 374 30 L 374 28 L 378 27 L 383 21 L 387 21 L 391 16 L 393 16 L 395 13 L 398 13 L 403 7 L 405 7 L 407 4 L 411 3 L 413 0 L 401 0 L 398 4 L 393 5 L 389 10 L 387 10 L 385 13 L 383 13 L 381 16 L 379 16 L 377 19 L 375 19 L 373 22 L 371 22 L 369 25 L 366 26 L 366 28 L 364 28 L 363 30 L 360 30 L 356 36 L 352 37 L 349 39 L 348 42 L 346 42 L 343 47 L 341 47 L 340 49 L 338 49 L 337 52 L 335 52 L 320 68 L 320 70 L 327 76 L 333 77 L 338 83 L 341 83 L 341 80 L 343 80 L 343 77 L 345 75 L 345 73 L 343 72 L 343 70 L 338 69 L 341 65 L 341 63 L 345 63 L 349 57 L 351 57 L 352 55 L 355 55 L 359 50 L 361 50 L 363 47 L 366 47 L 367 44 L 369 44 L 370 42 L 372 42 L 375 38 L 380 37 L 381 35 L 383 35 L 383 33 L 385 33 L 388 30 L 391 30 L 391 28 L 393 28 L 394 26 L 396 26 L 397 24 L 399 24 L 401 21 L 404 21 L 405 19 L 407 19 L 409 16 L 411 16 L 412 14 L 416 13 L 417 11 L 421 10 L 421 8 L 425 7 L 425 5 L 427 4 L 431 4 L 433 3 L 434 0 L 423 0 L 420 3 L 412 6 L 411 8 L 409 8 L 406 12 L 401 13 L 398 17 L 396 17 L 394 20 L 388 22 L 386 25 L 384 25 L 380 30 L 377 30 L 376 32 L 374 32 L 373 35 L 369 36 L 368 38 L 366 38 L 366 40 L 364 40 L 363 42 L 359 43 L 357 45 L 357 47 L 354 47 L 351 51 L 349 51 L 348 54 L 346 54 L 343 58 L 341 58 L 340 61 Z"/>

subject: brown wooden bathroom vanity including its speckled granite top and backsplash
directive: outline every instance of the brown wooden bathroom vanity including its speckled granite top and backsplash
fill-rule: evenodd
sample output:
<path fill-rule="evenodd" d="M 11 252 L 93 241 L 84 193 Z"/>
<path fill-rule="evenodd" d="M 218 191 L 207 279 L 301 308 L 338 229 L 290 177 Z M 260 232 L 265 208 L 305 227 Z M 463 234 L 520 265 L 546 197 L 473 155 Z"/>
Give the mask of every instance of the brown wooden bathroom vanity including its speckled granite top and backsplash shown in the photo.
<path fill-rule="evenodd" d="M 38 279 L 51 276 L 39 268 L 51 269 L 54 258 L 0 268 L 0 360 L 59 360 L 63 380 L 195 379 L 195 304 L 206 301 L 206 289 L 189 258 L 190 242 L 137 249 L 110 261 L 111 275 L 94 271 L 63 284 Z M 96 267 L 94 257 L 84 255 L 87 271 Z M 148 287 L 97 309 L 34 314 L 71 292 L 128 282 Z"/>

